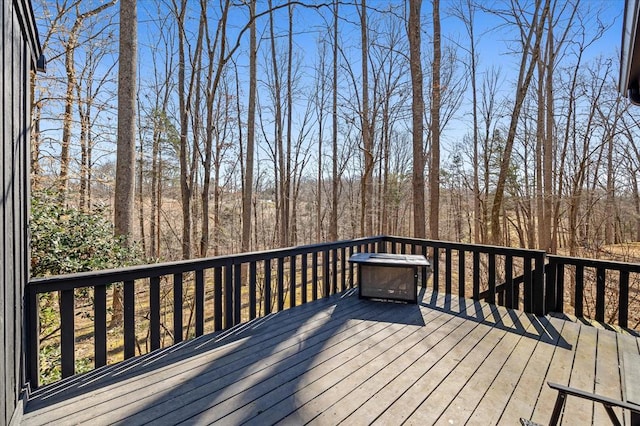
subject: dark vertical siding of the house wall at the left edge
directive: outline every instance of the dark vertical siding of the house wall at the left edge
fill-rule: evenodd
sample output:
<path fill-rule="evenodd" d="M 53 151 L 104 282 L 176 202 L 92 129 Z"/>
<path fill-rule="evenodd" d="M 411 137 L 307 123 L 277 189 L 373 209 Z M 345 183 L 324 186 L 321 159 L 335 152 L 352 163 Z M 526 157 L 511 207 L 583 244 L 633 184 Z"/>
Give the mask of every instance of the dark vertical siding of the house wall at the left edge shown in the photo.
<path fill-rule="evenodd" d="M 29 73 L 35 68 L 40 47 L 28 0 L 2 1 L 0 14 L 0 424 L 8 424 L 20 408 L 24 385 L 23 296 L 29 274 Z"/>

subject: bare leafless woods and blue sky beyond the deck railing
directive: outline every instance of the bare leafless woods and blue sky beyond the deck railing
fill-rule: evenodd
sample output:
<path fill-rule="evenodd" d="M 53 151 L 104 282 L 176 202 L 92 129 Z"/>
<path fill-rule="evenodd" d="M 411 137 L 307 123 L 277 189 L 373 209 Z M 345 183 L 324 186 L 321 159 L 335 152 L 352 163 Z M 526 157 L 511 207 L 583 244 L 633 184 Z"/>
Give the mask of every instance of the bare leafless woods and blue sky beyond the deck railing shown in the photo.
<path fill-rule="evenodd" d="M 121 168 L 129 3 L 34 1 L 32 186 L 132 208 L 147 258 L 376 234 L 637 258 L 622 2 L 145 1 Z"/>

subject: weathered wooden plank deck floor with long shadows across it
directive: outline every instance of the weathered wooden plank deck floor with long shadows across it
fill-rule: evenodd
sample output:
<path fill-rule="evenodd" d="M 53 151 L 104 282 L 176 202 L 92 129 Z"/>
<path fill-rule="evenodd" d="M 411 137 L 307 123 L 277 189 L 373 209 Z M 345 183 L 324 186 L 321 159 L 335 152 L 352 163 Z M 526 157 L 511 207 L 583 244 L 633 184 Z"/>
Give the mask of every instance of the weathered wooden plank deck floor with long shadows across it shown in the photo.
<path fill-rule="evenodd" d="M 36 391 L 24 425 L 519 424 L 549 420 L 546 381 L 620 398 L 640 338 L 426 292 L 353 290 Z M 628 413 L 624 414 L 629 424 Z M 608 424 L 569 398 L 564 424 Z"/>

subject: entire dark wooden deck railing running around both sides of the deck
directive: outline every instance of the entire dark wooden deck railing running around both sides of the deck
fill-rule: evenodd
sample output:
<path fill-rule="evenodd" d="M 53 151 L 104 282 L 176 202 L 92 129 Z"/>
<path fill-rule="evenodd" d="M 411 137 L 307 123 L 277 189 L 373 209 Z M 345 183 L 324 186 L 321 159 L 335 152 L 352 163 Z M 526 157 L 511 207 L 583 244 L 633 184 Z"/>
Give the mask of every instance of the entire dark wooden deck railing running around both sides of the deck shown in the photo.
<path fill-rule="evenodd" d="M 640 303 L 635 284 L 640 276 L 637 264 L 393 236 L 37 278 L 26 289 L 28 382 L 31 388 L 39 385 L 41 295 L 58 297 L 64 378 L 77 372 L 75 318 L 82 297 L 90 300 L 90 313 L 85 312 L 83 321 L 90 317 L 92 322 L 92 329 L 85 334 L 92 335 L 93 368 L 99 368 L 114 362 L 113 356 L 108 359 L 114 352 L 108 345 L 108 334 L 112 341 L 114 333 L 121 333 L 121 347 L 115 352 L 119 359 L 128 359 L 345 291 L 357 284 L 357 270 L 348 263 L 356 252 L 425 254 L 431 267 L 423 268 L 421 281 L 435 291 L 536 315 L 569 311 L 572 304 L 577 316 L 590 313 L 583 300 L 591 306 L 594 287 L 595 318 L 602 321 L 613 309 L 620 326 L 626 327 L 630 303 Z M 595 270 L 594 285 L 589 281 L 591 269 Z M 571 286 L 565 285 L 567 271 L 574 271 Z M 107 290 L 112 286 L 120 286 L 122 293 L 122 322 L 115 327 L 108 324 Z M 568 290 L 574 291 L 570 297 Z M 609 294 L 614 290 L 617 298 Z M 148 347 L 141 348 L 140 340 Z"/>

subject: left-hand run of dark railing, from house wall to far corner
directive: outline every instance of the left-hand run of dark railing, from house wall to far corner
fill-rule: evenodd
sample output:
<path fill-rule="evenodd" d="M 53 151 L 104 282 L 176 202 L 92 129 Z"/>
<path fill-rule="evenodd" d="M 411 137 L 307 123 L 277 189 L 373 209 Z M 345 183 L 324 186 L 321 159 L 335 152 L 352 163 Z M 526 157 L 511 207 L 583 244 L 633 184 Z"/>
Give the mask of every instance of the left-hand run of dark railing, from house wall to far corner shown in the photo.
<path fill-rule="evenodd" d="M 161 347 L 161 331 L 167 328 L 161 322 L 161 281 L 172 284 L 169 296 L 173 298 L 173 341 L 169 343 L 176 344 L 205 333 L 205 289 L 212 293 L 213 331 L 226 330 L 257 316 L 281 311 L 285 304 L 292 307 L 353 287 L 356 272 L 347 264 L 348 257 L 354 252 L 375 250 L 376 243 L 382 240 L 382 237 L 362 238 L 32 279 L 26 289 L 30 385 L 32 388 L 39 385 L 41 294 L 59 294 L 60 358 L 64 378 L 76 373 L 74 318 L 78 289 L 93 291 L 93 358 L 94 368 L 98 368 L 107 364 L 107 288 L 112 285 L 122 285 L 123 355 L 128 359 L 136 355 L 138 344 L 136 329 L 141 324 L 137 323 L 140 315 L 136 316 L 136 309 L 140 310 L 147 303 L 145 321 L 148 323 L 149 346 L 151 350 Z M 193 309 L 190 312 L 194 316 L 195 328 L 189 336 L 185 335 L 183 324 L 186 281 L 189 281 L 193 292 Z M 137 285 L 145 286 L 147 291 L 136 292 Z M 138 300 L 139 294 L 148 300 Z M 141 353 L 140 350 L 138 352 Z"/>

